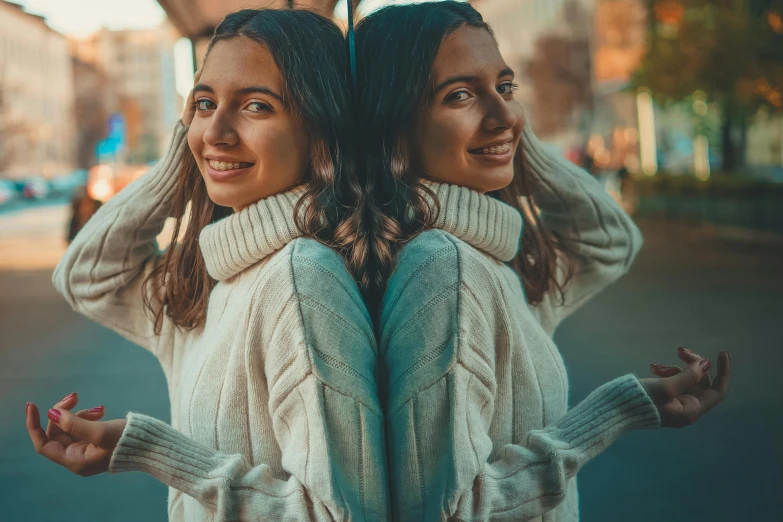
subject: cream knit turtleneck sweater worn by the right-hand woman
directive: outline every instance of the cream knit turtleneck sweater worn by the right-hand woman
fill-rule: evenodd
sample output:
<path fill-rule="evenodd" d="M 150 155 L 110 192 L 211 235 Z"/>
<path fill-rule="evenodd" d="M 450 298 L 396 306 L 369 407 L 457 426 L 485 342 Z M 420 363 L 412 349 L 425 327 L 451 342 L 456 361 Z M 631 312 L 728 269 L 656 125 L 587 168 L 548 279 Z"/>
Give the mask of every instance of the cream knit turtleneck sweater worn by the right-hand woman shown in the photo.
<path fill-rule="evenodd" d="M 504 263 L 519 250 L 519 212 L 464 187 L 431 185 L 437 228 L 402 249 L 379 325 L 394 520 L 577 521 L 577 471 L 622 433 L 660 426 L 632 373 L 568 407 L 552 334 L 628 270 L 641 236 L 586 172 L 529 128 L 522 143 L 547 183 L 536 195 L 542 219 L 585 264 L 564 306 L 557 295 L 528 306 Z"/>

